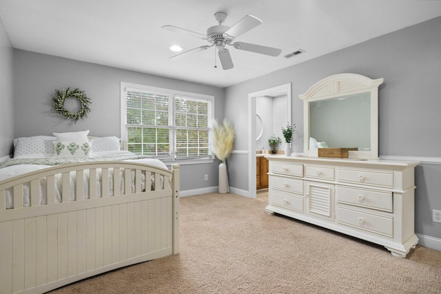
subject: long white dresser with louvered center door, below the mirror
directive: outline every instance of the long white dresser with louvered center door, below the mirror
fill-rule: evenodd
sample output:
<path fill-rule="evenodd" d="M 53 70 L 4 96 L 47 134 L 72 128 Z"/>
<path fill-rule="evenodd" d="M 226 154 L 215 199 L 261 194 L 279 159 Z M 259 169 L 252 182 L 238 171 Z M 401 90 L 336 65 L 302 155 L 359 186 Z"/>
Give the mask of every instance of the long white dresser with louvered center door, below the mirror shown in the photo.
<path fill-rule="evenodd" d="M 265 211 L 380 244 L 406 257 L 414 233 L 419 162 L 267 156 Z"/>

